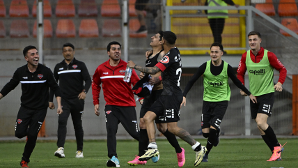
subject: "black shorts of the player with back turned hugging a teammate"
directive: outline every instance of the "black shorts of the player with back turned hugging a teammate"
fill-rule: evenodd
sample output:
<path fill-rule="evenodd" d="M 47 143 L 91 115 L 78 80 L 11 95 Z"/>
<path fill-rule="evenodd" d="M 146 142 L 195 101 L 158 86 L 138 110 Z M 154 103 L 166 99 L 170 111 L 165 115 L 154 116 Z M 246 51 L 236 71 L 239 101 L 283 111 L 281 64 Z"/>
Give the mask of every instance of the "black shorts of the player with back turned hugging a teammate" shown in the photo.
<path fill-rule="evenodd" d="M 154 112 L 164 123 L 177 122 L 180 120 L 180 105 L 183 96 L 159 96 L 155 103 L 150 107 L 149 111 Z"/>

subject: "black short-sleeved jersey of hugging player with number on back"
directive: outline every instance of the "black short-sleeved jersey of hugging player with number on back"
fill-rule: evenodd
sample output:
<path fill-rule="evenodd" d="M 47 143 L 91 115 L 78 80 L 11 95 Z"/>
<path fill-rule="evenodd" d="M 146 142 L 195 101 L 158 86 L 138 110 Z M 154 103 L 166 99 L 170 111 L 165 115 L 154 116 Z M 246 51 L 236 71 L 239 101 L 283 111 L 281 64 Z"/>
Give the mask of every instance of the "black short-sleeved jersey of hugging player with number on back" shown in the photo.
<path fill-rule="evenodd" d="M 182 63 L 178 48 L 170 49 L 156 66 L 162 70 L 162 84 L 164 85 L 162 95 L 182 96 L 180 89 Z"/>

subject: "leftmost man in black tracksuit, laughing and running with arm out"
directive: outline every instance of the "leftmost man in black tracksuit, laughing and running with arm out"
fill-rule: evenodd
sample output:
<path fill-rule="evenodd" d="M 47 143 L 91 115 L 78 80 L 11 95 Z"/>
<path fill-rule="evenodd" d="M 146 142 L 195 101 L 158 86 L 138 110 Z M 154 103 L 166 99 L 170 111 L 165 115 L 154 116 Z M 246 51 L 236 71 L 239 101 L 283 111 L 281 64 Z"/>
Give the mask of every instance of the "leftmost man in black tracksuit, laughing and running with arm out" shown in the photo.
<path fill-rule="evenodd" d="M 23 50 L 26 65 L 17 68 L 13 78 L 0 91 L 0 99 L 21 82 L 21 107 L 15 122 L 15 137 L 27 136 L 21 167 L 28 167 L 30 155 L 36 146 L 38 132 L 42 126 L 49 107 L 49 87 L 54 91 L 57 102 L 57 114 L 62 114 L 61 93 L 52 71 L 38 63 L 39 55 L 36 47 L 29 45 Z"/>

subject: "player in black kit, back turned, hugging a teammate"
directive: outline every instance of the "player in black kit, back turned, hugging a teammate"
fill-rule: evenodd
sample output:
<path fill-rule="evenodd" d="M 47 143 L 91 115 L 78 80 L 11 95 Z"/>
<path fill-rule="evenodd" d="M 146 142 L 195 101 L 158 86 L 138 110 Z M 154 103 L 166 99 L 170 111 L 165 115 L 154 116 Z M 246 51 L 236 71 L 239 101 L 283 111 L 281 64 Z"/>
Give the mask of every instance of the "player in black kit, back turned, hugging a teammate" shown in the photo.
<path fill-rule="evenodd" d="M 196 153 L 196 161 L 194 162 L 194 165 L 198 166 L 206 152 L 206 147 L 201 146 L 199 142 L 196 142 L 196 140 L 189 135 L 189 132 L 179 128 L 177 125 L 180 120 L 180 104 L 183 100 L 183 94 L 180 89 L 182 63 L 180 52 L 178 48 L 175 47 L 176 39 L 177 37 L 175 33 L 171 31 L 163 32 L 162 46 L 166 54 L 154 67 L 143 68 L 141 66 L 137 66 L 132 61 L 128 61 L 127 63 L 127 66 L 130 66 L 130 68 L 152 75 L 162 71 L 162 84 L 164 86 L 161 96 L 155 101 L 143 117 L 146 123 L 150 144 L 148 145 L 148 151 L 142 155 L 139 160 L 149 160 L 159 154 L 157 144 L 155 142 L 154 121 L 159 116 L 166 116 L 168 131 L 177 135 L 191 145 L 191 148 Z"/>

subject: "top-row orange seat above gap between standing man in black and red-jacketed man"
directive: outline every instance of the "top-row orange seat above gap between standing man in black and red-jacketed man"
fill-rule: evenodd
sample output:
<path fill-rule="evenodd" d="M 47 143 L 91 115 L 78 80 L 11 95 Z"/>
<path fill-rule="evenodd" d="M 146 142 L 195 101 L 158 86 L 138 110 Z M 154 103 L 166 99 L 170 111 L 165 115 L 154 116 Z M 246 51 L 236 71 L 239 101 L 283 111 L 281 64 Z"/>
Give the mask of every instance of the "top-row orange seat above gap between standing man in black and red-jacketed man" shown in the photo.
<path fill-rule="evenodd" d="M 97 17 L 97 6 L 95 0 L 81 0 L 79 3 L 79 17 Z"/>

